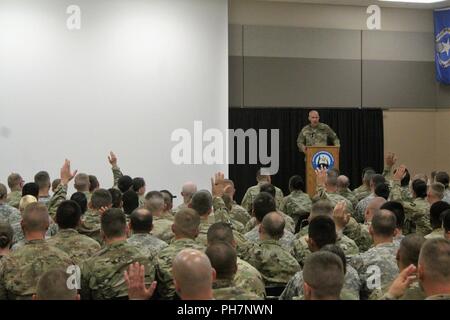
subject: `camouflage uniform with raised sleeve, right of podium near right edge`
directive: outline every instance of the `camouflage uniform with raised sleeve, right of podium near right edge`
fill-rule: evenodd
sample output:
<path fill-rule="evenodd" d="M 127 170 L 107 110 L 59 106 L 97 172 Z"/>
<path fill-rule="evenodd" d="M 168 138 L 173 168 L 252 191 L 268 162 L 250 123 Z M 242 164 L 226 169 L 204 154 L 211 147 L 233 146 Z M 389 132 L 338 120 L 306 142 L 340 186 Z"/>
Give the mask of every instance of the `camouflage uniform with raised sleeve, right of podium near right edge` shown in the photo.
<path fill-rule="evenodd" d="M 399 201 L 405 209 L 405 235 L 416 232 L 423 236 L 429 234 L 432 229 L 430 225 L 430 204 L 426 199 L 415 198 L 412 202 L 401 200 L 400 183 L 394 182 L 391 192 L 394 201 Z"/>

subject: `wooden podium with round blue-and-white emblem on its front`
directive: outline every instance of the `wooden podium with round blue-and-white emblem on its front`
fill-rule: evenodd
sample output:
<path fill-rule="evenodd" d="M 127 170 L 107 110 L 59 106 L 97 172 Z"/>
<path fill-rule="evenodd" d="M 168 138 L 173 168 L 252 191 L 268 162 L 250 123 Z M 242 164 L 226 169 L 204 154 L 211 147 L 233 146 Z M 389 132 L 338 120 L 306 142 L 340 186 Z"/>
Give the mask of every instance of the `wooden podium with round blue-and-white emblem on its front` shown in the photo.
<path fill-rule="evenodd" d="M 339 149 L 336 146 L 314 146 L 306 149 L 306 192 L 310 197 L 316 193 L 315 169 L 319 165 L 325 168 L 339 169 Z M 313 164 L 314 161 L 314 164 Z"/>

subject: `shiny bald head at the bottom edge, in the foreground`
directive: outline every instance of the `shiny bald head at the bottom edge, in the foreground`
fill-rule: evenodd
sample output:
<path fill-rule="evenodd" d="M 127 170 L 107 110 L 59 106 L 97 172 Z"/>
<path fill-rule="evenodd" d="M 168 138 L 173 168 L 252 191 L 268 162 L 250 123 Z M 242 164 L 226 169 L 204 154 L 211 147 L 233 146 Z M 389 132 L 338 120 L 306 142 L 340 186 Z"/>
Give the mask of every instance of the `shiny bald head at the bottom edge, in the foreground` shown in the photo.
<path fill-rule="evenodd" d="M 178 216 L 178 215 L 177 215 Z M 212 283 L 216 271 L 201 251 L 184 249 L 172 264 L 175 291 L 182 300 L 212 299 Z"/>

